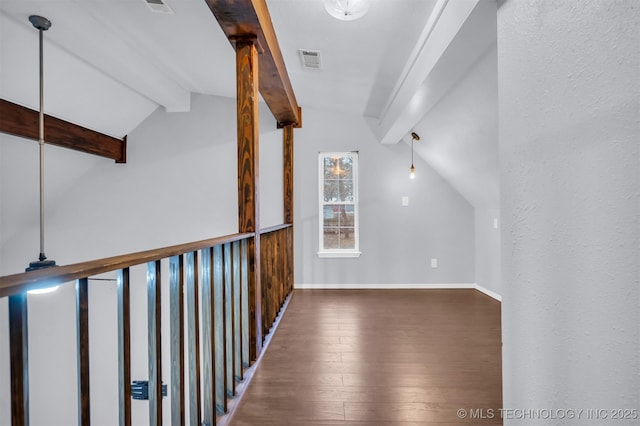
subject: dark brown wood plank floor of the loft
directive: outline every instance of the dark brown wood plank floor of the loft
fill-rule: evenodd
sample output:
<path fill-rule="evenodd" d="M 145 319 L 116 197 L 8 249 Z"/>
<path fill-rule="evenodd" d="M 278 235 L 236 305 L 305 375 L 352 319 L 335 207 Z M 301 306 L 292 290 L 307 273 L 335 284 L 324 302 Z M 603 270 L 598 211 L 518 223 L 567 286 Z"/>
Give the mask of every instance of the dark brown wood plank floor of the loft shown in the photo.
<path fill-rule="evenodd" d="M 501 425 L 501 364 L 475 290 L 295 290 L 230 424 Z"/>

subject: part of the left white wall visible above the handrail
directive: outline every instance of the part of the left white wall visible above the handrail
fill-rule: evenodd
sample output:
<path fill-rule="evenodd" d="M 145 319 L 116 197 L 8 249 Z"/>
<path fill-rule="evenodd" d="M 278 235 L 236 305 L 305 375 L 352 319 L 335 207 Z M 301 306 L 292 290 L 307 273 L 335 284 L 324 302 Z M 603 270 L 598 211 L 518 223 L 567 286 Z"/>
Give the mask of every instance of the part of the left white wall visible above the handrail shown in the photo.
<path fill-rule="evenodd" d="M 128 139 L 127 164 L 46 146 L 46 252 L 59 264 L 237 231 L 235 101 L 194 95 Z M 261 108 L 261 221 L 282 222 L 282 131 Z M 38 254 L 37 143 L 1 135 L 0 273 Z M 277 169 L 276 169 L 277 168 Z"/>

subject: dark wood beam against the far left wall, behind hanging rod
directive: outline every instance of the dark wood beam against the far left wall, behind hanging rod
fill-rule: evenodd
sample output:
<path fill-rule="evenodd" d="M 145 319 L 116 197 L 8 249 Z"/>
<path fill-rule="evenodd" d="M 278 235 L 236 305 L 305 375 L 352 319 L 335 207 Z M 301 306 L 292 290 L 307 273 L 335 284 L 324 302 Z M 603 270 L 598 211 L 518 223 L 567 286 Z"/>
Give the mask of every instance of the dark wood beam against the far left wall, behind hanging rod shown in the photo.
<path fill-rule="evenodd" d="M 37 141 L 38 114 L 38 111 L 0 99 L 0 132 Z M 114 138 L 46 114 L 44 134 L 48 144 L 106 157 L 116 163 L 127 162 L 126 136 Z"/>

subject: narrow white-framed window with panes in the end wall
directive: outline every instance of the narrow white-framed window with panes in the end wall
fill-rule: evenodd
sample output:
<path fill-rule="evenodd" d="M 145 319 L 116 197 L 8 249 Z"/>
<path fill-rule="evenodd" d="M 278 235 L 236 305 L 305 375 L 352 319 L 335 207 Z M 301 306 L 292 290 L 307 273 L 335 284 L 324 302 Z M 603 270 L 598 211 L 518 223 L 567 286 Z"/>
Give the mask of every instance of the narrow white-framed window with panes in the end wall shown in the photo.
<path fill-rule="evenodd" d="M 358 257 L 358 153 L 321 152 L 320 257 Z"/>

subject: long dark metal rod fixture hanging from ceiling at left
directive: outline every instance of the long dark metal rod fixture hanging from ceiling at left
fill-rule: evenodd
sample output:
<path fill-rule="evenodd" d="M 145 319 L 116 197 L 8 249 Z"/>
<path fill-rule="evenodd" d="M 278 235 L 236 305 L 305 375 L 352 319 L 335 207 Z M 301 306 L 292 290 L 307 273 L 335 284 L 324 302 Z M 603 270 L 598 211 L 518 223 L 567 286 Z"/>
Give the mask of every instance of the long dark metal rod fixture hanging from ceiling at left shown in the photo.
<path fill-rule="evenodd" d="M 44 77 L 43 77 L 43 55 L 42 55 L 42 34 L 51 27 L 51 21 L 42 16 L 31 15 L 29 22 L 38 30 L 40 35 L 40 116 L 39 116 L 39 136 L 40 146 L 40 256 L 35 262 L 29 263 L 27 271 L 49 268 L 56 266 L 55 260 L 47 259 L 44 254 Z"/>

